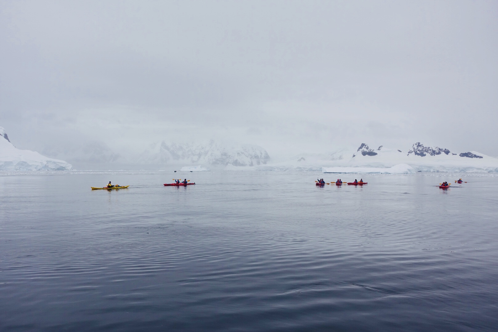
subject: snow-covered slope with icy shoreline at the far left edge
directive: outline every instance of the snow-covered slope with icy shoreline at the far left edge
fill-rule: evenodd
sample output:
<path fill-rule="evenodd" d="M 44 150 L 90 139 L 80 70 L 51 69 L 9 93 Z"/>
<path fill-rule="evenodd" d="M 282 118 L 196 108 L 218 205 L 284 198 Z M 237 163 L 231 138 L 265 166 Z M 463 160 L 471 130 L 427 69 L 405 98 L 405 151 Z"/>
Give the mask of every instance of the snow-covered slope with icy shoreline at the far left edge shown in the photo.
<path fill-rule="evenodd" d="M 5 129 L 0 127 L 0 170 L 70 170 L 73 166 L 37 152 L 19 150 L 10 143 Z"/>

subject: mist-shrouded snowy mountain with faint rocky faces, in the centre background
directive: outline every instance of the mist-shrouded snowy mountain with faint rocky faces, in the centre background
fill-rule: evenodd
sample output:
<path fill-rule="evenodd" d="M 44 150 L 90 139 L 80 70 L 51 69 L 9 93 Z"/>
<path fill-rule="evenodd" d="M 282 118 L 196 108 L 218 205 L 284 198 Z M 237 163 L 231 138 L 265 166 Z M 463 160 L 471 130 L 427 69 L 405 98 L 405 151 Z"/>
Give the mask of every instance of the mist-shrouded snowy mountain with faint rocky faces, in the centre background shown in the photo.
<path fill-rule="evenodd" d="M 259 166 L 270 160 L 263 148 L 256 145 L 225 146 L 214 141 L 208 144 L 155 143 L 136 160 L 137 164 Z"/>

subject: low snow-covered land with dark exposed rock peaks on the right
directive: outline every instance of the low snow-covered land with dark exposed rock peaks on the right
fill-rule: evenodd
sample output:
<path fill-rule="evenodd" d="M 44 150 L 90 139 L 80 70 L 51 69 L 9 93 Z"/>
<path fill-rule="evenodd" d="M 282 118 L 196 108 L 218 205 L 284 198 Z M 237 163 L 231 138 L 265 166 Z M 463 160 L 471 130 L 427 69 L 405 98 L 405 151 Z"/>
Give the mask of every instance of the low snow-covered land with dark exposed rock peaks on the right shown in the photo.
<path fill-rule="evenodd" d="M 348 172 L 358 172 L 360 171 L 359 167 L 366 167 L 363 171 L 368 170 L 368 172 L 498 172 L 498 159 L 476 151 L 452 153 L 449 149 L 425 147 L 420 142 L 403 150 L 384 148 L 383 146 L 374 150 L 362 143 L 357 149 L 341 149 L 329 154 L 300 154 L 280 163 L 244 168 L 229 166 L 227 169 L 319 171 L 323 168 L 324 171 L 328 171 L 328 168 L 331 167 L 335 168 L 331 172 L 337 172 L 338 167 L 357 168 L 349 169 Z M 346 168 L 342 168 L 342 171 L 346 170 Z"/>

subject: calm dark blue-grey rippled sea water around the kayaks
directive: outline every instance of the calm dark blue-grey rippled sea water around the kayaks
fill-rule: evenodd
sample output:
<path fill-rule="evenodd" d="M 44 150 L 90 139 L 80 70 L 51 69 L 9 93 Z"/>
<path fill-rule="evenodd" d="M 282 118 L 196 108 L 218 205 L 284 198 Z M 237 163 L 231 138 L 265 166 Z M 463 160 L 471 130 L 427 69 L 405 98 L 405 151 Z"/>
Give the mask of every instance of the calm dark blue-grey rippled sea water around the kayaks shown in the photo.
<path fill-rule="evenodd" d="M 497 331 L 498 177 L 317 177 L 0 173 L 0 330 Z"/>

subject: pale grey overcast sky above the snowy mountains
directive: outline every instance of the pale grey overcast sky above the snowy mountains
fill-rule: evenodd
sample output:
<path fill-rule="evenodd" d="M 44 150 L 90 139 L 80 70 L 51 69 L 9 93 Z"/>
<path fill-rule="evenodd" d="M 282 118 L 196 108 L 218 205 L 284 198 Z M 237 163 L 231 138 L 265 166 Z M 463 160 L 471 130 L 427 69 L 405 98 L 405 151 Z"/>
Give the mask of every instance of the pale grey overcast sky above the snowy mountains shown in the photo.
<path fill-rule="evenodd" d="M 420 141 L 498 156 L 498 1 L 0 1 L 18 148 Z"/>

